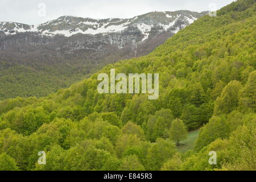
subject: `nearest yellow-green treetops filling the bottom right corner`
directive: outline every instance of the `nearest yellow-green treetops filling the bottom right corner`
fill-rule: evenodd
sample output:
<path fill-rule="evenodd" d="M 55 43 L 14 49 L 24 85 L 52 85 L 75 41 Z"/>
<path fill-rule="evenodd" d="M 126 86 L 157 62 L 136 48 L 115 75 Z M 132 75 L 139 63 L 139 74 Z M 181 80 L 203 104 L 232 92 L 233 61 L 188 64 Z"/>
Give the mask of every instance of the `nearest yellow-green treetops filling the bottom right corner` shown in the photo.
<path fill-rule="evenodd" d="M 249 129 L 238 127 L 229 139 L 216 139 L 200 152 L 189 156 L 182 170 L 238 170 L 255 171 L 255 119 Z M 217 165 L 209 165 L 209 151 L 216 151 Z"/>

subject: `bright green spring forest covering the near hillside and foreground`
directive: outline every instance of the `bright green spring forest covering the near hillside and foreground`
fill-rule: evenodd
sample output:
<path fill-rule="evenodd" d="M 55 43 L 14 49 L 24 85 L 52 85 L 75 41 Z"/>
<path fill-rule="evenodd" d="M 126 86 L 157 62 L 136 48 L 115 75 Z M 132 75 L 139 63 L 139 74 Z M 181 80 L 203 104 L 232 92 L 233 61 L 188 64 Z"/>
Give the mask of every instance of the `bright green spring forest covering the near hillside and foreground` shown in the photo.
<path fill-rule="evenodd" d="M 0 101 L 0 170 L 255 170 L 255 10 L 255 0 L 238 0 L 150 55 L 44 98 Z M 98 93 L 98 74 L 112 68 L 159 73 L 158 100 Z M 194 146 L 180 151 L 197 129 Z"/>

